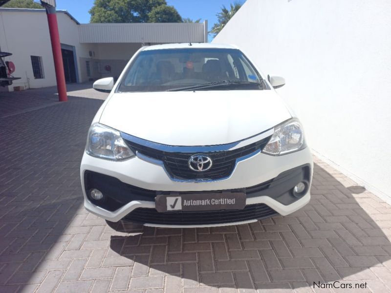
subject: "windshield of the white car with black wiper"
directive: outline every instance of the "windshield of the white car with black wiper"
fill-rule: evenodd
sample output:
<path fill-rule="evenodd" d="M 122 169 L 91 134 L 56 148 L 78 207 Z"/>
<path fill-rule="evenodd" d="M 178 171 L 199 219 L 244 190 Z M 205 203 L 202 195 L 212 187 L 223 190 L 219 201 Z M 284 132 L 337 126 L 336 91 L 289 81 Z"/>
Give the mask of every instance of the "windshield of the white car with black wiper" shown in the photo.
<path fill-rule="evenodd" d="M 186 87 L 198 90 L 197 85 L 210 83 L 218 86 L 200 86 L 199 89 L 221 90 L 234 86 L 254 90 L 263 89 L 266 85 L 262 82 L 260 74 L 238 49 L 159 49 L 141 51 L 137 55 L 118 91 L 186 90 Z"/>

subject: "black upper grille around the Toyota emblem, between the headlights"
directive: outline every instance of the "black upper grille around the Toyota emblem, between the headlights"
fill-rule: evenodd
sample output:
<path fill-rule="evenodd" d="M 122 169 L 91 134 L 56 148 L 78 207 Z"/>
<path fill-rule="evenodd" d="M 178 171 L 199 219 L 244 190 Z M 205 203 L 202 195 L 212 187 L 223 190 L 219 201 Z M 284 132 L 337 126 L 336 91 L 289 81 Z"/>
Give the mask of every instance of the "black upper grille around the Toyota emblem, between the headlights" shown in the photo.
<path fill-rule="evenodd" d="M 216 180 L 228 177 L 234 170 L 236 160 L 261 150 L 269 141 L 270 136 L 258 142 L 237 149 L 214 152 L 168 152 L 148 146 L 142 146 L 125 140 L 127 145 L 140 154 L 162 161 L 171 177 L 181 180 Z M 213 161 L 213 166 L 204 172 L 197 172 L 189 168 L 188 161 L 192 155 L 204 154 Z"/>

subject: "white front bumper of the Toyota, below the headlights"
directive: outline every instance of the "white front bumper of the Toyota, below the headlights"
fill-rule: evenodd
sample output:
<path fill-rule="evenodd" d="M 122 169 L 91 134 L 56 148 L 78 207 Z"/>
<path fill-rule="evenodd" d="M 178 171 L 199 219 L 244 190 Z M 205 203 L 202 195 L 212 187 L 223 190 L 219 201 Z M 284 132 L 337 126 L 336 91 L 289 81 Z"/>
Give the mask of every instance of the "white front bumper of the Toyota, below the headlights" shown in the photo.
<path fill-rule="evenodd" d="M 119 180 L 119 184 L 113 183 L 111 184 L 112 186 L 125 184 L 134 188 L 147 189 L 149 191 L 158 190 L 159 192 L 186 192 L 191 190 L 193 192 L 197 192 L 243 189 L 249 187 L 253 188 L 255 186 L 259 186 L 260 183 L 270 184 L 272 180 L 278 178 L 279 175 L 283 174 L 287 170 L 295 168 L 297 169 L 298 167 L 302 168 L 304 166 L 307 166 L 308 168 L 306 180 L 308 181 L 308 186 L 310 186 L 313 165 L 311 153 L 308 147 L 301 151 L 276 157 L 258 153 L 250 158 L 247 158 L 246 160 L 240 161 L 232 175 L 225 180 L 212 182 L 175 182 L 170 179 L 163 167 L 143 161 L 138 157 L 124 162 L 111 162 L 93 158 L 87 154 L 84 154 L 81 165 L 81 178 L 86 209 L 106 220 L 117 222 L 123 218 L 126 218 L 134 209 L 155 209 L 153 194 L 152 196 L 144 194 L 144 197 L 141 196 L 138 198 L 132 198 L 130 201 L 128 198 L 128 200 L 125 200 L 125 202 L 122 201 L 120 206 L 114 205 L 111 207 L 105 206 L 105 208 L 102 208 L 87 197 L 86 189 L 91 188 L 88 186 L 88 184 L 86 184 L 86 175 L 88 172 L 92 171 L 95 173 L 108 175 L 110 177 L 114 177 L 114 179 Z M 290 180 L 290 185 L 293 182 L 296 182 L 295 180 L 298 178 L 297 176 L 293 177 L 295 179 Z M 297 183 L 298 182 L 295 184 Z M 290 185 L 289 188 L 292 188 Z M 259 207 L 259 205 L 266 205 L 276 213 L 287 215 L 302 208 L 309 202 L 309 188 L 303 196 L 298 199 L 294 199 L 294 201 L 291 201 L 287 199 L 288 197 L 286 195 L 284 195 L 286 194 L 286 190 L 288 190 L 286 189 L 286 186 L 284 185 L 284 188 L 280 189 L 278 187 L 269 190 L 265 189 L 261 193 L 253 192 L 252 196 L 248 194 L 246 199 L 246 208 L 251 208 L 251 205 L 258 205 L 257 207 Z M 118 188 L 116 189 L 116 193 L 119 194 L 122 199 L 124 197 L 126 199 L 128 196 L 127 194 L 124 194 L 126 192 Z M 195 225 L 192 225 L 189 222 L 186 222 L 186 224 L 183 225 L 181 224 L 181 221 L 179 221 L 177 224 L 173 222 L 169 222 L 169 224 L 156 222 L 153 223 L 153 220 L 151 219 L 151 221 L 145 220 L 143 224 L 155 227 L 210 227 L 221 226 L 225 224 L 234 225 L 248 223 L 256 221 L 257 219 L 246 219 L 240 221 L 235 221 L 235 219 L 232 219 L 231 221 L 227 220 L 227 222 L 220 221 L 218 223 L 196 223 Z"/>

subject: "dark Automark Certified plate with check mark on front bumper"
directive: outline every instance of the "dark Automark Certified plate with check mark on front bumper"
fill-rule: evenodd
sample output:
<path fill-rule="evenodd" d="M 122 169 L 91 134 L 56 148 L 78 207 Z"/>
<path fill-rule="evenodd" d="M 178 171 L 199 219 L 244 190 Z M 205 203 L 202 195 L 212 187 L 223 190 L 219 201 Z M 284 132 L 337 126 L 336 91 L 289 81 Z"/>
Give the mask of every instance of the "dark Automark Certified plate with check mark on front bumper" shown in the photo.
<path fill-rule="evenodd" d="M 244 192 L 222 193 L 192 193 L 159 194 L 155 197 L 156 210 L 165 211 L 196 211 L 219 209 L 244 209 L 246 194 Z"/>

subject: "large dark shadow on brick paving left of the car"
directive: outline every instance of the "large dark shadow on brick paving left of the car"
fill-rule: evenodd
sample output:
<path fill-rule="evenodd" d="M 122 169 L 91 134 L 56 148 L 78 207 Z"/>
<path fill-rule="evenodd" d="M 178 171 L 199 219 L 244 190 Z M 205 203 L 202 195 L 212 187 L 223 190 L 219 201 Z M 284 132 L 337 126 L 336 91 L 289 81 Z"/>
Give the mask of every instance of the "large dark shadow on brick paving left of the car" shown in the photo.
<path fill-rule="evenodd" d="M 0 292 L 34 291 L 86 216 L 80 161 L 102 101 L 69 101 L 0 119 Z"/>

